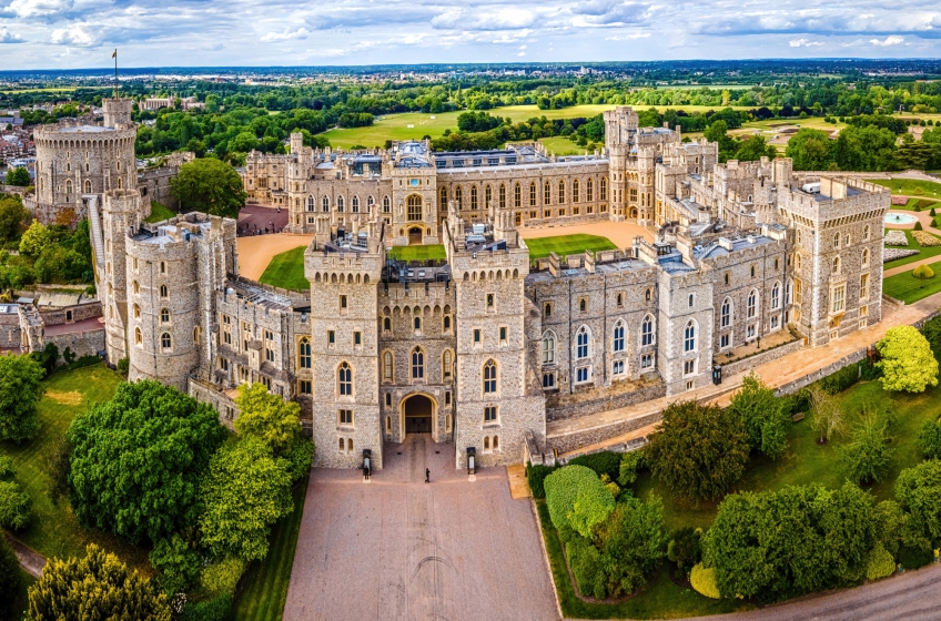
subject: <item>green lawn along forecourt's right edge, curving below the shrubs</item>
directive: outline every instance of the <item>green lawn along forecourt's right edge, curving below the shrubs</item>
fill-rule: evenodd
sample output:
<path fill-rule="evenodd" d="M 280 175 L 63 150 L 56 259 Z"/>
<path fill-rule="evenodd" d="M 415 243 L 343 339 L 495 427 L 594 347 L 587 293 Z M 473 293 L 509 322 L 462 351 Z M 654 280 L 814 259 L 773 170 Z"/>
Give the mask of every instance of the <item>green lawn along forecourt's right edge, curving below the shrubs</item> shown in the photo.
<path fill-rule="evenodd" d="M 751 607 L 736 600 L 710 600 L 691 589 L 678 587 L 670 580 L 667 563 L 660 567 L 647 589 L 621 603 L 588 603 L 575 593 L 561 541 L 552 526 L 545 500 L 537 500 L 539 525 L 549 554 L 553 580 L 556 583 L 563 614 L 575 619 L 681 619 L 701 614 L 719 614 Z"/>

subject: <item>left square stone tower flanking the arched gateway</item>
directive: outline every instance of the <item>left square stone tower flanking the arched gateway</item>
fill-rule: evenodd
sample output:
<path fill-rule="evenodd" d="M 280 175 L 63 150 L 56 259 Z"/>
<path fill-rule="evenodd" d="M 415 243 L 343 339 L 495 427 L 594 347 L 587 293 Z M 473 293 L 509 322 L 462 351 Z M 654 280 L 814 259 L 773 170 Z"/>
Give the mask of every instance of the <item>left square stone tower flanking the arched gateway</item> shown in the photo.
<path fill-rule="evenodd" d="M 363 449 L 382 468 L 378 377 L 378 283 L 385 264 L 382 223 L 367 226 L 368 248 L 311 243 L 304 275 L 311 282 L 313 431 L 315 465 L 356 468 Z"/>

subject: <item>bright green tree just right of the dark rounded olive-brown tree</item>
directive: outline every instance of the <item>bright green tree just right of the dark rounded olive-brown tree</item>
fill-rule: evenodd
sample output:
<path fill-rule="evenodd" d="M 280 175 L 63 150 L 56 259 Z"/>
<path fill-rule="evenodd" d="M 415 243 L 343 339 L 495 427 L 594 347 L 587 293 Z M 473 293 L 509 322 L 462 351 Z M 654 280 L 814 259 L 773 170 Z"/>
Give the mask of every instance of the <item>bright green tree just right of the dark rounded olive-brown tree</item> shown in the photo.
<path fill-rule="evenodd" d="M 755 373 L 741 380 L 741 389 L 731 398 L 729 409 L 745 423 L 751 450 L 777 459 L 788 448 L 788 420 L 781 413 L 775 391 Z"/>

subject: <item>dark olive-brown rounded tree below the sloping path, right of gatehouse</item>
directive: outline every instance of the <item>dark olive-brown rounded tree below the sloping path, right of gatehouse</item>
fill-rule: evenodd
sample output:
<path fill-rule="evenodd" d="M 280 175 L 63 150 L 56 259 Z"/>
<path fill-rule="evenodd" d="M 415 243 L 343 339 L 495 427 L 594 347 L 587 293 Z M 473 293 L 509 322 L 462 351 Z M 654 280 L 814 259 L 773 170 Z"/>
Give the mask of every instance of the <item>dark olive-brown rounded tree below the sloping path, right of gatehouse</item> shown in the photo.
<path fill-rule="evenodd" d="M 692 502 L 720 498 L 741 478 L 748 452 L 739 416 L 696 401 L 667 406 L 647 447 L 654 476 Z"/>

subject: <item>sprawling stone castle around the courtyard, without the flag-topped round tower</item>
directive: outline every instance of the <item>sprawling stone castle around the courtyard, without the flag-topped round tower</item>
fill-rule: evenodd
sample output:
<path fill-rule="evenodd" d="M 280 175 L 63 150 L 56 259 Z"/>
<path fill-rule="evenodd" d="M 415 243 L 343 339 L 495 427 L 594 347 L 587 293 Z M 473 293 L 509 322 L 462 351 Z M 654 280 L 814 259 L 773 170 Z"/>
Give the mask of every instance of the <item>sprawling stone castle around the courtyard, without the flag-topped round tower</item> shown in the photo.
<path fill-rule="evenodd" d="M 480 465 L 549 454 L 547 420 L 681 396 L 760 339 L 816 347 L 880 319 L 884 189 L 788 159 L 718 164 L 716 144 L 629 108 L 605 122 L 604 151 L 575 157 L 300 134 L 290 155 L 250 154 L 246 191 L 314 235 L 303 293 L 239 275 L 234 221 L 145 224 L 140 192 L 109 187 L 91 227 L 109 359 L 226 421 L 234 389 L 263 383 L 301 404 L 321 466 L 368 449 L 382 467 L 427 432 L 463 467 L 468 447 Z M 530 261 L 519 234 L 625 220 L 655 241 Z M 405 244 L 446 258 L 392 258 Z"/>

